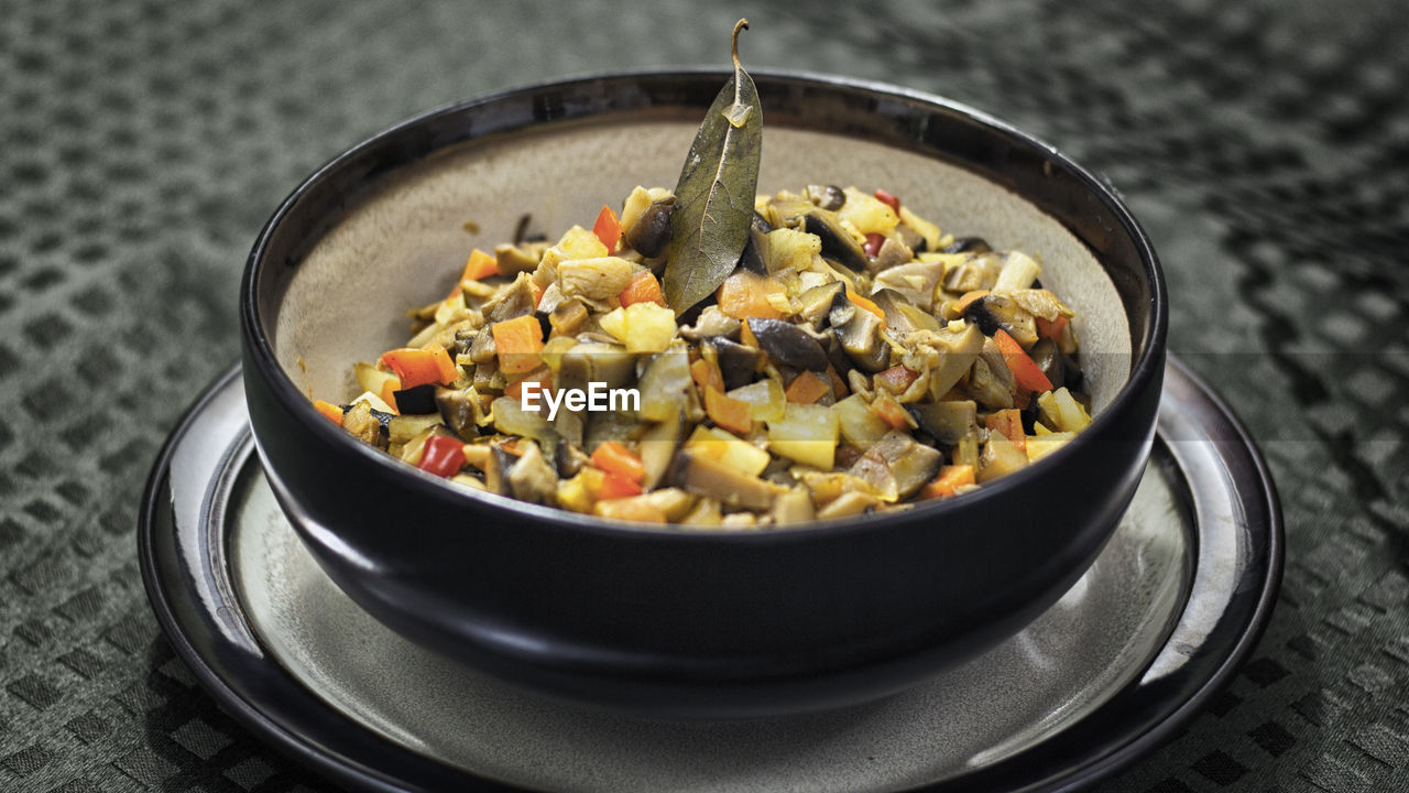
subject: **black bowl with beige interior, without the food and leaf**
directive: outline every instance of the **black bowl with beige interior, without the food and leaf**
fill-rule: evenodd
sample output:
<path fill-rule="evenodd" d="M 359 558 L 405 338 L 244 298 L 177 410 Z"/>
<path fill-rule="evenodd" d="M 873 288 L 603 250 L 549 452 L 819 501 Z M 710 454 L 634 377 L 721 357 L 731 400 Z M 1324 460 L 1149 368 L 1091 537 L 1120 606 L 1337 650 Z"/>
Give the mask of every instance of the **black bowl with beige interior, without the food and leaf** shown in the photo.
<path fill-rule="evenodd" d="M 507 238 L 520 213 L 557 233 L 635 183 L 674 185 L 726 76 L 607 75 L 430 111 L 320 169 L 259 234 L 241 323 L 261 460 L 333 580 L 393 629 L 578 703 L 700 717 L 824 708 L 898 691 L 1016 632 L 1115 529 L 1164 368 L 1164 284 L 1144 233 L 1053 147 L 934 96 L 838 78 L 755 75 L 759 192 L 886 186 L 945 230 L 1041 254 L 1044 284 L 1078 312 L 1096 399 L 1064 449 L 909 511 L 681 531 L 469 494 L 313 409 L 310 392 L 344 395 L 349 364 L 404 341 L 404 308 L 441 296 L 468 247 Z"/>

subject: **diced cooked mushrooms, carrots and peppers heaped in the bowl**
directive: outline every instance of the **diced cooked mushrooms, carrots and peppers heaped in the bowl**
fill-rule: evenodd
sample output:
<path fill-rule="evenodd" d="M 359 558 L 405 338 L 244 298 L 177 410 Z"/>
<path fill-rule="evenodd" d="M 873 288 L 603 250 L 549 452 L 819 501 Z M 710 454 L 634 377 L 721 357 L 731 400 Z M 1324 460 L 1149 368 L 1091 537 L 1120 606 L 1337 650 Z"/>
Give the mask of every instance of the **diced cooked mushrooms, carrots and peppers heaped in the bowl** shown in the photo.
<path fill-rule="evenodd" d="M 354 367 L 361 394 L 318 409 L 472 490 L 724 528 L 958 495 L 1091 422 L 1074 312 L 1027 253 L 809 185 L 758 199 L 714 293 L 671 305 L 676 196 L 621 207 L 475 248 L 404 347 Z"/>

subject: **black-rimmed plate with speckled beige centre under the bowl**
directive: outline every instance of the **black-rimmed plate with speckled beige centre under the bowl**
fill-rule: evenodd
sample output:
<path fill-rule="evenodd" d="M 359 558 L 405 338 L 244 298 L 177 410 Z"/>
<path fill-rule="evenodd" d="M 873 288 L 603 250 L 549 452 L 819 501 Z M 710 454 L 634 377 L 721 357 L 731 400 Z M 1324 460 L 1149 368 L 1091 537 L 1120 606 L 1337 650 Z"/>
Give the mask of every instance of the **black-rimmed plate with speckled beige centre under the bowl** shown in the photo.
<path fill-rule="evenodd" d="M 162 449 L 138 542 L 156 615 L 206 689 L 352 787 L 1065 790 L 1198 713 L 1275 598 L 1282 529 L 1267 468 L 1172 360 L 1158 433 L 1122 526 L 1050 611 L 931 682 L 820 714 L 603 714 L 410 645 L 342 595 L 282 519 L 251 454 L 238 370 Z"/>

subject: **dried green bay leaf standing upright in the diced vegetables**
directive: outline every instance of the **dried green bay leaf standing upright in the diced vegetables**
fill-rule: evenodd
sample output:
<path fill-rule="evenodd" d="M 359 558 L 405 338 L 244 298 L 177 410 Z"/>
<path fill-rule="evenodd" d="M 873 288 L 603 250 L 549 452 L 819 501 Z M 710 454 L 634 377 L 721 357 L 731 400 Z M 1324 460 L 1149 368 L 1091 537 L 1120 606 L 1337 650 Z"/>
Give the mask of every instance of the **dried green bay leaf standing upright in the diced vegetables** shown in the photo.
<path fill-rule="evenodd" d="M 734 25 L 734 76 L 704 113 L 675 185 L 669 261 L 661 289 L 676 316 L 734 271 L 754 217 L 764 113 L 754 79 L 738 62 L 738 31 L 747 27 L 748 20 Z"/>

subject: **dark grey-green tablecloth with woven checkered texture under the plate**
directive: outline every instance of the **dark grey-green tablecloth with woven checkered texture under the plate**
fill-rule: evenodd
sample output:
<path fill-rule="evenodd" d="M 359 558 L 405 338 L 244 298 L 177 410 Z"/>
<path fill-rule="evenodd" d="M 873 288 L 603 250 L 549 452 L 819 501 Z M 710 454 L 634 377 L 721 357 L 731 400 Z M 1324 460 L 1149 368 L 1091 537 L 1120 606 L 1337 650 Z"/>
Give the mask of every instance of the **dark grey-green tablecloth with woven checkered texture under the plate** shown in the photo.
<path fill-rule="evenodd" d="M 162 638 L 134 525 L 237 358 L 255 233 L 393 121 L 565 73 L 726 62 L 941 93 L 1106 174 L 1169 349 L 1267 453 L 1286 577 L 1251 660 L 1106 790 L 1409 789 L 1409 6 L 0 0 L 0 789 L 327 783 Z"/>

